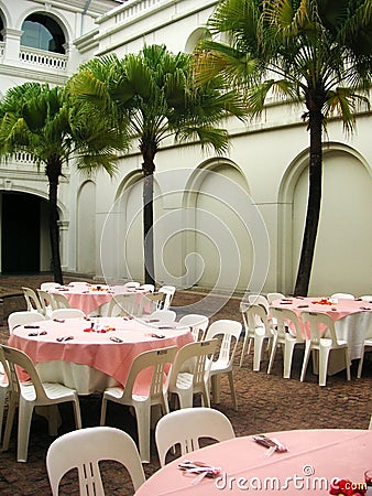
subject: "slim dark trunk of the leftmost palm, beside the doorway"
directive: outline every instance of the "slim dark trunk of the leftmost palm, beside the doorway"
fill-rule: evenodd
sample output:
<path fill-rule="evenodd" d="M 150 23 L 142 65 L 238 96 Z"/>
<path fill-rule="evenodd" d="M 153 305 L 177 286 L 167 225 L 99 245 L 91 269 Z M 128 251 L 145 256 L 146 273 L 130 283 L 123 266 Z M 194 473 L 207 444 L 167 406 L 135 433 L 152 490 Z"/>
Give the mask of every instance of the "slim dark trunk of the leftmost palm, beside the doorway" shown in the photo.
<path fill-rule="evenodd" d="M 51 238 L 51 251 L 54 281 L 63 284 L 62 267 L 61 267 L 61 254 L 59 254 L 59 229 L 58 229 L 58 208 L 57 208 L 57 192 L 58 180 L 61 175 L 62 166 L 59 160 L 57 163 L 54 161 L 46 165 L 46 175 L 50 182 L 50 238 Z"/>

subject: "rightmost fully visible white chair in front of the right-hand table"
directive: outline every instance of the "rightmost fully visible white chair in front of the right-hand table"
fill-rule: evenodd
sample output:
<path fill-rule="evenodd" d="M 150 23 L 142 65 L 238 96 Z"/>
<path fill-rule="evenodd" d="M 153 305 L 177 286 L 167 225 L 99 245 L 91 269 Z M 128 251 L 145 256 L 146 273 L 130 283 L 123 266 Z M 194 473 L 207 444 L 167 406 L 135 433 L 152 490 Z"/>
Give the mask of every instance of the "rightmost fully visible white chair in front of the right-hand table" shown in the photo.
<path fill-rule="evenodd" d="M 338 339 L 332 319 L 318 312 L 302 312 L 304 324 L 309 324 L 310 336 L 305 339 L 305 355 L 300 373 L 300 381 L 304 381 L 307 364 L 311 352 L 317 352 L 316 357 L 319 368 L 319 386 L 326 386 L 329 353 L 333 349 L 344 351 L 344 367 L 347 379 L 350 380 L 350 354 L 349 345 L 343 339 Z"/>

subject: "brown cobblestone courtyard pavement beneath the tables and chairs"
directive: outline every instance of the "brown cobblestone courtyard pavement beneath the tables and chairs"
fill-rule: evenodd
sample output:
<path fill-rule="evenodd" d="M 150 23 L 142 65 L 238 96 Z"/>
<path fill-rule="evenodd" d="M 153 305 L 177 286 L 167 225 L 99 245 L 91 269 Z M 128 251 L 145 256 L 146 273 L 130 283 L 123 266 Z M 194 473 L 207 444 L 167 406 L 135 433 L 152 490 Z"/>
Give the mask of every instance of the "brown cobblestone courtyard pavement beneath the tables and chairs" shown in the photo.
<path fill-rule="evenodd" d="M 77 279 L 77 278 L 74 278 Z M 51 277 L 2 277 L 0 289 L 18 292 L 22 285 L 37 288 L 40 282 L 52 280 Z M 66 278 L 65 282 L 69 282 Z M 7 292 L 3 290 L 3 293 Z M 1 293 L 0 293 L 1 294 Z M 199 293 L 179 291 L 176 293 L 174 305 L 184 308 L 200 300 Z M 220 300 L 221 303 L 222 300 Z M 240 298 L 231 298 L 211 320 L 233 319 L 240 321 Z M 206 302 L 210 305 L 210 302 Z M 217 304 L 217 308 L 219 304 Z M 177 310 L 177 309 L 176 309 Z M 184 309 L 185 310 L 185 309 Z M 1 341 L 6 342 L 8 327 L 0 327 Z M 282 378 L 282 356 L 277 354 L 271 375 L 266 374 L 267 357 L 262 363 L 261 371 L 252 371 L 252 356 L 248 356 L 243 366 L 239 367 L 241 345 L 236 359 L 234 382 L 239 401 L 239 411 L 232 409 L 228 382 L 221 380 L 221 402 L 218 408 L 231 420 L 237 435 L 247 435 L 258 432 L 282 431 L 291 429 L 366 429 L 372 413 L 371 406 L 371 363 L 366 362 L 363 368 L 363 377 L 355 379 L 357 366 L 352 365 L 352 378 L 348 382 L 346 374 L 340 373 L 328 377 L 327 386 L 320 388 L 317 385 L 317 376 L 309 370 L 306 381 L 299 381 L 300 354 L 295 355 L 291 379 Z M 80 397 L 81 416 L 84 427 L 98 425 L 100 396 L 92 395 Z M 73 412 L 69 406 L 61 407 L 63 424 L 59 434 L 74 429 Z M 15 422 L 14 422 L 15 423 Z M 135 421 L 129 410 L 110 405 L 108 409 L 107 424 L 125 430 L 135 439 Z M 0 453 L 0 494 L 23 495 L 51 495 L 51 489 L 45 470 L 45 455 L 48 445 L 53 441 L 47 434 L 45 420 L 35 416 L 31 427 L 29 461 L 18 463 L 15 461 L 17 430 L 13 429 L 10 449 Z M 344 450 L 346 456 L 352 456 Z M 158 462 L 152 442 L 152 460 L 144 466 L 146 477 L 158 468 Z M 102 464 L 103 482 L 108 496 L 121 496 L 133 494 L 133 488 L 128 474 L 119 470 L 112 462 Z M 335 474 L 344 476 L 346 474 Z M 64 478 L 61 495 L 77 495 L 76 474 Z M 149 495 L 154 496 L 154 495 Z"/>

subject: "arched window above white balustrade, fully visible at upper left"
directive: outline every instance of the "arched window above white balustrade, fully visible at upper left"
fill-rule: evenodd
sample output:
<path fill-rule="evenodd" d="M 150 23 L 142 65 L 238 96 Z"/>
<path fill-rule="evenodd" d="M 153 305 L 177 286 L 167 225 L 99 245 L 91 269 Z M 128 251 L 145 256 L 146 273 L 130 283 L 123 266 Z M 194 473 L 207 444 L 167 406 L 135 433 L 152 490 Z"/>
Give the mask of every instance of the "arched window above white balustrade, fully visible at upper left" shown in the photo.
<path fill-rule="evenodd" d="M 31 14 L 23 22 L 22 31 L 21 45 L 65 53 L 65 35 L 52 18 L 39 13 Z"/>

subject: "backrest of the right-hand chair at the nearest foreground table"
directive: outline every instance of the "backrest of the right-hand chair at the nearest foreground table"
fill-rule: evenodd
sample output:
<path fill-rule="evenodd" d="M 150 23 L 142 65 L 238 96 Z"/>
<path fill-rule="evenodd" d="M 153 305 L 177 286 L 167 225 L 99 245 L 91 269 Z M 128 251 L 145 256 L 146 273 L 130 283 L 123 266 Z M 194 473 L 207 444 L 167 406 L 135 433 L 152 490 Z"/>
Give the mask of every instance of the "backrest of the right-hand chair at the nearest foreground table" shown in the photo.
<path fill-rule="evenodd" d="M 234 438 L 230 420 L 219 410 L 195 407 L 175 410 L 162 417 L 155 428 L 155 443 L 161 466 L 168 450 L 179 444 L 185 455 L 199 449 L 203 438 L 227 441 Z"/>

